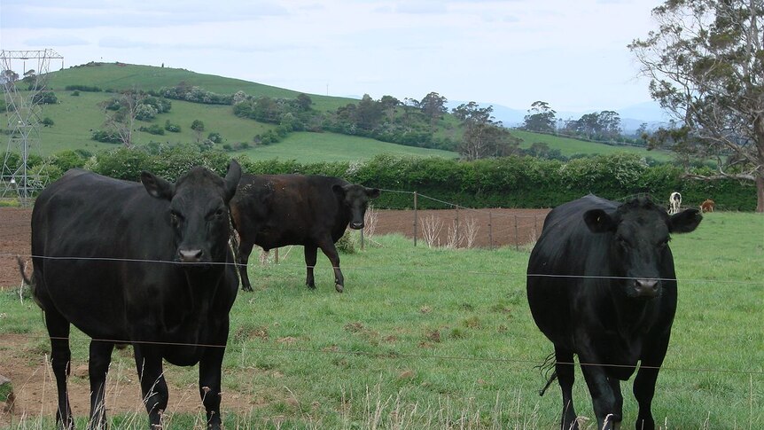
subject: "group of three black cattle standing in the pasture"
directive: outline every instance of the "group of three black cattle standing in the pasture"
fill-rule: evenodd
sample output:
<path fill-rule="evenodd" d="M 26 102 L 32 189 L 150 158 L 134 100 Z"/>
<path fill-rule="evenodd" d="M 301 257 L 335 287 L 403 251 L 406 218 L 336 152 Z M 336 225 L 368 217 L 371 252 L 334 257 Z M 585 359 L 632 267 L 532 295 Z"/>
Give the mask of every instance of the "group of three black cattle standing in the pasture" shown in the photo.
<path fill-rule="evenodd" d="M 379 190 L 326 176 L 226 176 L 192 168 L 175 184 L 144 172 L 141 183 L 70 170 L 38 197 L 32 214 L 31 280 L 51 337 L 58 426 L 74 428 L 66 379 L 70 324 L 90 336 L 90 424 L 105 428 L 105 379 L 114 346 L 131 344 L 152 428 L 168 406 L 162 361 L 199 364 L 207 428 L 222 428 L 221 366 L 239 277 L 253 245 L 305 246 L 306 284 L 315 287 L 317 249 L 344 280 L 334 243 Z M 674 212 L 674 211 L 672 211 Z M 676 309 L 672 233 L 695 230 L 690 208 L 667 214 L 649 199 L 624 204 L 589 195 L 553 209 L 530 255 L 527 298 L 554 344 L 563 395 L 562 429 L 578 428 L 573 356 L 598 428 L 617 428 L 620 380 L 636 371 L 636 428 L 652 429 L 651 402 Z M 231 251 L 231 226 L 240 244 Z M 551 358 L 550 358 L 551 359 Z"/>

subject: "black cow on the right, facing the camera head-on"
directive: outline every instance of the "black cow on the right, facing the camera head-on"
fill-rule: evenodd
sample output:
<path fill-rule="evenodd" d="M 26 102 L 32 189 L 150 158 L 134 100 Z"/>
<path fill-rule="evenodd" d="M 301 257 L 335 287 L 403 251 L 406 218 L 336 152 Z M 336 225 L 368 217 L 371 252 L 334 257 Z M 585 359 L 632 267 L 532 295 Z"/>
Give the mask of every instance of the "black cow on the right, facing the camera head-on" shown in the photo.
<path fill-rule="evenodd" d="M 563 395 L 560 428 L 577 429 L 573 355 L 578 355 L 598 429 L 619 428 L 627 380 L 639 404 L 637 429 L 653 429 L 652 396 L 676 309 L 671 233 L 702 216 L 676 215 L 649 199 L 624 204 L 589 195 L 553 209 L 528 262 L 527 296 L 539 329 L 554 343 Z"/>

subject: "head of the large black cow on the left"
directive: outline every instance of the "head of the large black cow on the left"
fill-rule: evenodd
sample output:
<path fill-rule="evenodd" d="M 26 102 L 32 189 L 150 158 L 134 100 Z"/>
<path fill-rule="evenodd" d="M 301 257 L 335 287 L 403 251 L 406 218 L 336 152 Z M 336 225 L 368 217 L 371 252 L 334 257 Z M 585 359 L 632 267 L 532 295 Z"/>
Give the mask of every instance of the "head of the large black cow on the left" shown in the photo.
<path fill-rule="evenodd" d="M 175 231 L 179 262 L 224 262 L 230 235 L 228 202 L 236 192 L 241 167 L 231 160 L 223 179 L 207 168 L 192 168 L 170 184 L 151 173 L 141 173 L 149 194 L 169 200 L 168 217 Z"/>

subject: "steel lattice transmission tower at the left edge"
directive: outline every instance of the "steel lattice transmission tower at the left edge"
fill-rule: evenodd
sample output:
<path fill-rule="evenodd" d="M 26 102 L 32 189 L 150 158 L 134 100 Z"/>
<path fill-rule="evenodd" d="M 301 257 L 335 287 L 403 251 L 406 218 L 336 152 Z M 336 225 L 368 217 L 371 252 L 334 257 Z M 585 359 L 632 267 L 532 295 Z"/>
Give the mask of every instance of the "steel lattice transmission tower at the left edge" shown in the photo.
<path fill-rule="evenodd" d="M 39 169 L 29 168 L 29 156 L 40 143 L 41 96 L 46 89 L 51 59 L 61 59 L 63 67 L 64 58 L 53 50 L 0 52 L 0 81 L 9 133 L 0 172 L 0 197 L 18 197 L 24 205 L 48 182 Z"/>

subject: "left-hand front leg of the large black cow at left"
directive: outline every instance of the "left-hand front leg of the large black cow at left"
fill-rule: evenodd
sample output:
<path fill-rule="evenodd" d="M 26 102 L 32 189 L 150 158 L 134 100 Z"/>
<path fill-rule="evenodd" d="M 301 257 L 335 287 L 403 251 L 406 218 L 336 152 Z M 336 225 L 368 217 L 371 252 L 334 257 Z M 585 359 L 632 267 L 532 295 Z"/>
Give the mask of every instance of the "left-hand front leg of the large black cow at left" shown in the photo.
<path fill-rule="evenodd" d="M 152 353 L 151 348 L 134 344 L 136 368 L 141 380 L 141 393 L 146 411 L 149 413 L 149 424 L 152 428 L 161 428 L 162 413 L 168 407 L 168 384 L 162 374 L 162 358 Z"/>

